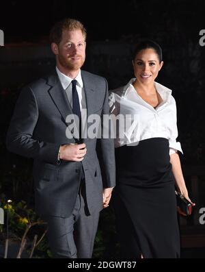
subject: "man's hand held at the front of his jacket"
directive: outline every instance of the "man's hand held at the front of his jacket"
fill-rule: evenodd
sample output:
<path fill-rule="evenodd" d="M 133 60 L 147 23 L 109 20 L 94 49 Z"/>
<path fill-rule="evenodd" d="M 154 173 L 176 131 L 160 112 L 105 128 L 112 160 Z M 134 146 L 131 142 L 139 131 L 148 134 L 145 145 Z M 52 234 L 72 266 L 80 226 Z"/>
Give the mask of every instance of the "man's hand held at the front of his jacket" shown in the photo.
<path fill-rule="evenodd" d="M 59 149 L 59 158 L 61 160 L 70 160 L 72 162 L 81 162 L 86 154 L 85 144 L 80 145 L 61 145 Z"/>

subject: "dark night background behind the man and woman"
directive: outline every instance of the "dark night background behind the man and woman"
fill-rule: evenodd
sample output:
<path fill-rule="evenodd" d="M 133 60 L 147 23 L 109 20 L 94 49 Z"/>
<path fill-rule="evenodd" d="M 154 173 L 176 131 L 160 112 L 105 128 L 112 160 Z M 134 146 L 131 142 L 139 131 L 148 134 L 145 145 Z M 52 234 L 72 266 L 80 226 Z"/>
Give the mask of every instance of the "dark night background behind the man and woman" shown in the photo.
<path fill-rule="evenodd" d="M 87 29 L 84 69 L 105 76 L 109 88 L 133 77 L 131 53 L 139 38 L 161 45 L 164 66 L 156 81 L 173 90 L 182 168 L 197 202 L 194 217 L 185 225 L 199 225 L 198 211 L 205 206 L 205 47 L 199 44 L 204 10 L 203 0 L 1 1 L 5 47 L 0 48 L 0 192 L 32 203 L 31 161 L 6 151 L 5 134 L 20 88 L 53 69 L 51 26 L 71 17 Z"/>

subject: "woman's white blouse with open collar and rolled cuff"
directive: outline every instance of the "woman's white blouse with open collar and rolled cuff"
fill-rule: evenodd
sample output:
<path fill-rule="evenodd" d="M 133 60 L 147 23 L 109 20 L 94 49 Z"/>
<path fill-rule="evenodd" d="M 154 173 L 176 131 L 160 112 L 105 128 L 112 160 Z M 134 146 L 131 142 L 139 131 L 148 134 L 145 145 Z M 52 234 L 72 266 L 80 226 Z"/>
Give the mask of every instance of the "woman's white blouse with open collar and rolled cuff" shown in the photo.
<path fill-rule="evenodd" d="M 172 90 L 154 82 L 154 86 L 162 98 L 155 109 L 144 101 L 133 87 L 135 78 L 126 86 L 112 90 L 109 95 L 111 118 L 115 128 L 115 147 L 136 145 L 140 140 L 148 138 L 167 138 L 169 154 L 182 152 L 181 145 L 176 142 L 178 129 L 176 124 L 176 101 Z M 118 119 L 118 121 L 116 121 Z"/>

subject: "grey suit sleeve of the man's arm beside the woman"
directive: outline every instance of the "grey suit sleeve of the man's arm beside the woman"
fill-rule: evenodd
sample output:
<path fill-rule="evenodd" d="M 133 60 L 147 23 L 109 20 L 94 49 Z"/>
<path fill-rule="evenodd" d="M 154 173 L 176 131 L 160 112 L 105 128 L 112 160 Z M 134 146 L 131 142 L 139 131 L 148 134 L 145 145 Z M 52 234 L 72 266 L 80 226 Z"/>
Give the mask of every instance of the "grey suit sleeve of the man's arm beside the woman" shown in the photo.
<path fill-rule="evenodd" d="M 102 116 L 103 119 L 104 114 L 109 116 L 109 103 L 108 103 L 108 88 L 107 88 L 107 80 L 105 79 L 105 99 L 102 108 Z M 102 131 L 109 130 L 107 124 L 102 122 Z M 106 133 L 105 133 L 106 134 Z M 104 166 L 104 179 L 102 179 L 103 187 L 110 188 L 115 186 L 115 147 L 114 147 L 114 139 L 109 136 L 109 138 L 100 139 L 101 143 L 101 151 L 102 151 L 102 161 Z"/>

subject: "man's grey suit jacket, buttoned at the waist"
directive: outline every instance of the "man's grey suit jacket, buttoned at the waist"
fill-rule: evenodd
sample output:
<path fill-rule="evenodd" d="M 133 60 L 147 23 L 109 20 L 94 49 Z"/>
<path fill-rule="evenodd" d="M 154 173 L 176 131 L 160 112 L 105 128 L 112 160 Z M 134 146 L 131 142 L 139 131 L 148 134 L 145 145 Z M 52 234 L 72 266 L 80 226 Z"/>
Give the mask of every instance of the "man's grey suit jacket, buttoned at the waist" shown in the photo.
<path fill-rule="evenodd" d="M 106 79 L 85 71 L 81 71 L 81 76 L 87 116 L 108 114 Z M 82 162 L 57 162 L 59 146 L 74 143 L 74 138 L 66 138 L 68 114 L 72 114 L 72 108 L 55 72 L 23 88 L 8 129 L 8 149 L 34 160 L 36 210 L 40 215 L 70 216 L 77 199 L 82 168 L 90 213 L 102 209 L 102 188 L 115 186 L 113 139 L 100 139 L 105 171 L 103 182 L 96 138 L 85 138 L 87 153 Z"/>

